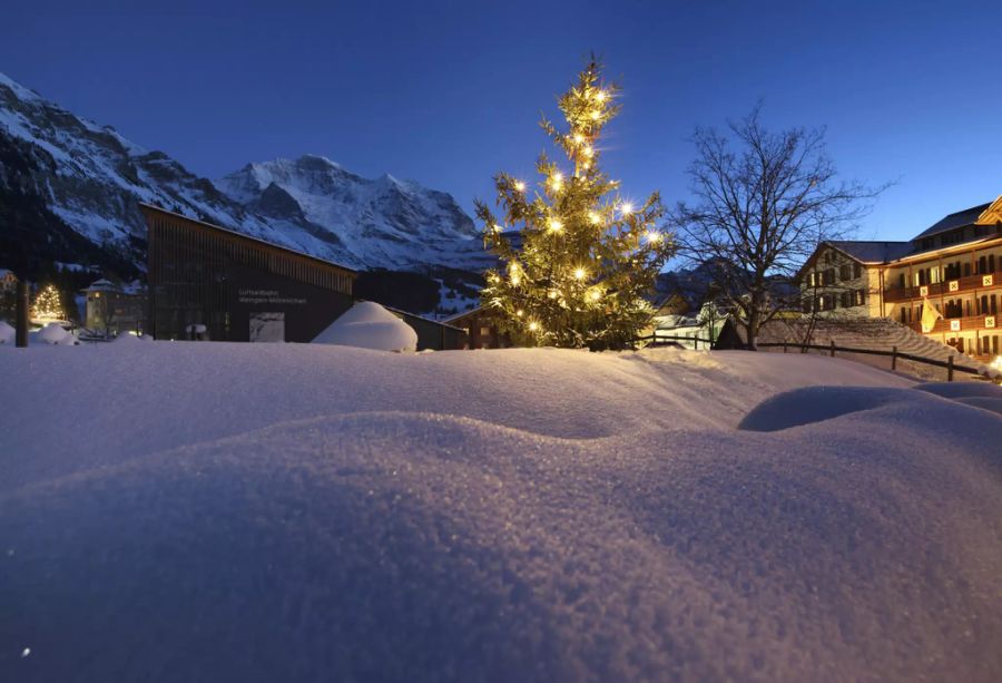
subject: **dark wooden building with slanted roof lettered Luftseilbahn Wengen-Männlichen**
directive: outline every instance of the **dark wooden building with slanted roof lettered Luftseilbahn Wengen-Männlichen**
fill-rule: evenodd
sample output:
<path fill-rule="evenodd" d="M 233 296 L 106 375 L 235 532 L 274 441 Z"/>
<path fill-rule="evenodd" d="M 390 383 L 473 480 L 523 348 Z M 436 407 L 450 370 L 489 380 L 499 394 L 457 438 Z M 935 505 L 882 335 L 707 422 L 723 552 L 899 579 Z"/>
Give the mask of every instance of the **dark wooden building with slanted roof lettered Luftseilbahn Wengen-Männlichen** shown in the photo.
<path fill-rule="evenodd" d="M 352 304 L 355 271 L 140 205 L 148 233 L 149 332 L 225 341 L 312 341 Z"/>

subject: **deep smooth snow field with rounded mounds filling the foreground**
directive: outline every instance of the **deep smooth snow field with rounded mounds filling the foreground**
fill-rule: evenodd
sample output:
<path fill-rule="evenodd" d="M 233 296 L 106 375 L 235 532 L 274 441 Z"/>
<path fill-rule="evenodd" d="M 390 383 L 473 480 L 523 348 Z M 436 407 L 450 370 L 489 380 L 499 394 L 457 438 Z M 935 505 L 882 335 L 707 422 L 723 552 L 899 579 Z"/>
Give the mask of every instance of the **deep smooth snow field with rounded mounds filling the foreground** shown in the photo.
<path fill-rule="evenodd" d="M 799 354 L 0 348 L 0 680 L 999 681 L 1002 390 L 925 389 Z"/>

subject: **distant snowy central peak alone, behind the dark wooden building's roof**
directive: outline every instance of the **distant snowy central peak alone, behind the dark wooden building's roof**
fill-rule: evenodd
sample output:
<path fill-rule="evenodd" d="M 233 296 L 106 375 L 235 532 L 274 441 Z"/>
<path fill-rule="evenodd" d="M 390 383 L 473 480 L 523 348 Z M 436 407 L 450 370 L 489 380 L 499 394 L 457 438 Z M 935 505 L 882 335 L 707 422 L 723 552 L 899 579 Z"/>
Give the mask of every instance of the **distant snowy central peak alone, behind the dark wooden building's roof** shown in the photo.
<path fill-rule="evenodd" d="M 267 221 L 336 235 L 362 264 L 403 270 L 490 264 L 473 221 L 451 195 L 389 174 L 363 178 L 306 155 L 248 164 L 215 185 Z"/>

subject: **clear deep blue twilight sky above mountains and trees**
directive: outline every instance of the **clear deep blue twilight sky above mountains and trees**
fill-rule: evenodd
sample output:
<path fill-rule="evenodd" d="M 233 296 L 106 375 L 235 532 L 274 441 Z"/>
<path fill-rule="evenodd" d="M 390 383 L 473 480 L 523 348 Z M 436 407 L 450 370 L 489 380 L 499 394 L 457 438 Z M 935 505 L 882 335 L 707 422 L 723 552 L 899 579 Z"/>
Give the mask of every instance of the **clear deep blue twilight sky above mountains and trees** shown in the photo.
<path fill-rule="evenodd" d="M 623 87 L 603 164 L 687 195 L 696 125 L 759 98 L 827 126 L 847 177 L 897 180 L 859 238 L 903 240 L 1002 193 L 999 2 L 47 2 L 3 9 L 0 71 L 210 178 L 327 156 L 493 199 L 590 50 Z"/>

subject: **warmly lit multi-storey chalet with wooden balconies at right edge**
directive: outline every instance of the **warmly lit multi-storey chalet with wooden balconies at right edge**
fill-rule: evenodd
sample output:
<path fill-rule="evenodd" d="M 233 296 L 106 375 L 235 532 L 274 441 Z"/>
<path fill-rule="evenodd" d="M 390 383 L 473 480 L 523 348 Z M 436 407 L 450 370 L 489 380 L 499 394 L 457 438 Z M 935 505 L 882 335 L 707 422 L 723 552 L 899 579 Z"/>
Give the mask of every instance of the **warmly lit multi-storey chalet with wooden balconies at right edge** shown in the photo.
<path fill-rule="evenodd" d="M 969 355 L 999 355 L 1002 196 L 907 242 L 823 242 L 797 279 L 804 312 L 890 318 Z"/>

